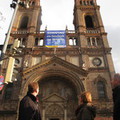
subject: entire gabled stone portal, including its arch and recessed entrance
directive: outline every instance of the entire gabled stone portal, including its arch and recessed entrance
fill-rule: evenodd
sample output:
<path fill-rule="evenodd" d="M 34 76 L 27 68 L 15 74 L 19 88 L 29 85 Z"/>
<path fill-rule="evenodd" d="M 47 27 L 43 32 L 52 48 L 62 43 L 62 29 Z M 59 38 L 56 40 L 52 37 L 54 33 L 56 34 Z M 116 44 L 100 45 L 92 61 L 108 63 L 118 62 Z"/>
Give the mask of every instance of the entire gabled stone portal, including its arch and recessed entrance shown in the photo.
<path fill-rule="evenodd" d="M 75 107 L 78 105 L 77 96 L 85 90 L 83 79 L 86 76 L 85 70 L 53 57 L 23 72 L 20 98 L 26 94 L 28 84 L 37 81 L 40 85 L 39 100 L 43 120 L 74 119 Z M 50 109 L 48 106 L 54 107 Z M 55 109 L 60 114 L 48 114 L 48 111 Z"/>

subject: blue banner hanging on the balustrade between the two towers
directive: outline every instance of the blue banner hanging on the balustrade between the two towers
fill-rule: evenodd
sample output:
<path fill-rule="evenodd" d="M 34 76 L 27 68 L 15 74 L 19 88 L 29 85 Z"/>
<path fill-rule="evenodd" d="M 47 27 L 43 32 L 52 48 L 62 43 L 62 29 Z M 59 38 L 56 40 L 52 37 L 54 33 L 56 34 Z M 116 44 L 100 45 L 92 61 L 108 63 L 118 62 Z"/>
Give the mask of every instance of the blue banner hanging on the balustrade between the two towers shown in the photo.
<path fill-rule="evenodd" d="M 66 47 L 65 30 L 48 30 L 45 32 L 45 46 L 62 48 Z"/>

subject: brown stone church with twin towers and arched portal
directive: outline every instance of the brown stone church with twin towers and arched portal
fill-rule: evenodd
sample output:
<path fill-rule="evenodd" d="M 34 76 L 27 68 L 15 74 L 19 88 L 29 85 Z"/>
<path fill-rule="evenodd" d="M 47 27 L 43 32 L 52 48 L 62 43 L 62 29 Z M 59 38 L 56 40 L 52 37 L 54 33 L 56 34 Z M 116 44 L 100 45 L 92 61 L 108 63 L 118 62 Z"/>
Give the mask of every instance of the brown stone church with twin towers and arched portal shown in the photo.
<path fill-rule="evenodd" d="M 6 56 L 14 59 L 12 83 L 0 93 L 0 120 L 17 120 L 19 101 L 32 81 L 40 86 L 42 120 L 76 120 L 83 91 L 92 93 L 96 120 L 111 118 L 114 66 L 100 6 L 97 0 L 74 0 L 73 11 L 75 29 L 64 30 L 66 46 L 46 47 L 48 30 L 40 30 L 40 0 L 20 0 L 8 42 L 11 47 L 6 50 Z M 21 52 L 11 50 L 16 39 L 24 46 L 17 48 Z M 4 76 L 8 67 L 5 59 Z"/>

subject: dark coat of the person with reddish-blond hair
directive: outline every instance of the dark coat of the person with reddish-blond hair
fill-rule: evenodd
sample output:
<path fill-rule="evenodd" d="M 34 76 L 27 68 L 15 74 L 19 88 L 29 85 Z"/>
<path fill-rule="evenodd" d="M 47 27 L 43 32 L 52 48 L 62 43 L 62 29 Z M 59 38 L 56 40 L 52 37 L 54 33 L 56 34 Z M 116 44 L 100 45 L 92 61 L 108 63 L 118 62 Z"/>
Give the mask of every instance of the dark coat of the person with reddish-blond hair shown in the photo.
<path fill-rule="evenodd" d="M 81 104 L 75 111 L 77 120 L 94 120 L 96 109 L 90 103 Z"/>

